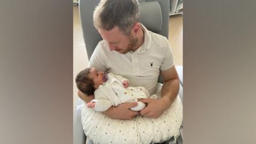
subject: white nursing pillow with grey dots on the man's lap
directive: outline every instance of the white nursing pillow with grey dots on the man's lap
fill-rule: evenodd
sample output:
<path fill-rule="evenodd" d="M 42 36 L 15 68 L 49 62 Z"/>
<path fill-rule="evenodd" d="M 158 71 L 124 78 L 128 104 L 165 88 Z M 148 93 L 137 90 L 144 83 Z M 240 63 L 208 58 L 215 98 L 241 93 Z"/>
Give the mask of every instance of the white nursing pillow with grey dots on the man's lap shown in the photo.
<path fill-rule="evenodd" d="M 81 117 L 84 133 L 93 143 L 152 143 L 153 139 L 159 143 L 179 131 L 182 113 L 182 103 L 177 97 L 171 108 L 156 119 L 142 116 L 125 121 L 110 119 L 86 105 L 82 108 Z"/>

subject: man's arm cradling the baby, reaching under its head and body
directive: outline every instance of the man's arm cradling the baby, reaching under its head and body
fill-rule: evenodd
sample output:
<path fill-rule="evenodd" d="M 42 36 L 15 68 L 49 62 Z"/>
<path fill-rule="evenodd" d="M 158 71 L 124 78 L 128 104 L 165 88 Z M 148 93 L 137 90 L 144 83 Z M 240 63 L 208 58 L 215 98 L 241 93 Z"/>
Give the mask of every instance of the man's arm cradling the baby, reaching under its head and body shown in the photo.
<path fill-rule="evenodd" d="M 87 96 L 81 91 L 77 91 L 78 97 L 81 98 L 84 102 L 90 102 L 94 99 L 94 95 Z M 108 110 L 103 111 L 102 113 L 113 119 L 132 119 L 133 117 L 139 115 L 138 111 L 133 111 L 130 108 L 137 106 L 137 102 L 123 103 L 117 107 L 110 107 Z"/>

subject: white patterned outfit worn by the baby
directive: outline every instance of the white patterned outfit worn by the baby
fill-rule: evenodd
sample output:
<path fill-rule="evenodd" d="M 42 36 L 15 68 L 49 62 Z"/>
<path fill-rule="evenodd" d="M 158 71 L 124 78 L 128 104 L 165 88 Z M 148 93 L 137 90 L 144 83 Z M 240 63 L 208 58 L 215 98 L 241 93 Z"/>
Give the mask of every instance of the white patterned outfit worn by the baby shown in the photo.
<path fill-rule="evenodd" d="M 107 75 L 108 80 L 100 85 L 99 88 L 94 92 L 95 99 L 92 100 L 95 102 L 94 110 L 106 111 L 111 106 L 116 107 L 121 103 L 138 102 L 137 99 L 149 98 L 149 92 L 145 89 L 145 87 L 129 86 L 125 88 L 122 83 L 125 80 L 128 81 L 126 78 L 119 75 L 114 75 L 113 73 L 109 73 Z M 152 97 L 157 98 L 156 95 L 152 95 Z"/>

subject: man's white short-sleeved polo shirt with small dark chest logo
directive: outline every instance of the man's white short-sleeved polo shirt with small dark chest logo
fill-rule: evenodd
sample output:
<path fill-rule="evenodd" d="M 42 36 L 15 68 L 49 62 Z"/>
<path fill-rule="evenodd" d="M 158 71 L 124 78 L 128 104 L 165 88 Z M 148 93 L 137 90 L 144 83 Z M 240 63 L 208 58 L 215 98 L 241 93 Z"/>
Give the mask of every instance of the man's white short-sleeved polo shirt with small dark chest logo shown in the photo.
<path fill-rule="evenodd" d="M 108 43 L 102 40 L 96 46 L 89 61 L 89 67 L 107 71 L 129 79 L 130 86 L 144 86 L 150 95 L 156 92 L 160 70 L 174 66 L 173 55 L 166 37 L 146 29 L 144 42 L 134 52 L 121 54 L 110 51 Z"/>

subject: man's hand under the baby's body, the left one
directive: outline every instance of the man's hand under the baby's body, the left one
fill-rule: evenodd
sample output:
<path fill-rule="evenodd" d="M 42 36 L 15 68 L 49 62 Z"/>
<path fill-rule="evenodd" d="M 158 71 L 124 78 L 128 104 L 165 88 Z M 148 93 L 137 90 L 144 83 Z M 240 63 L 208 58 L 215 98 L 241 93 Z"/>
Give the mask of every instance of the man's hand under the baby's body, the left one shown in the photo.
<path fill-rule="evenodd" d="M 139 111 L 133 111 L 130 108 L 137 106 L 137 102 L 123 103 L 117 107 L 110 107 L 102 113 L 113 119 L 132 119 L 139 115 Z"/>

